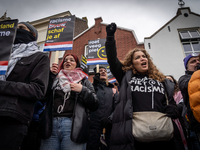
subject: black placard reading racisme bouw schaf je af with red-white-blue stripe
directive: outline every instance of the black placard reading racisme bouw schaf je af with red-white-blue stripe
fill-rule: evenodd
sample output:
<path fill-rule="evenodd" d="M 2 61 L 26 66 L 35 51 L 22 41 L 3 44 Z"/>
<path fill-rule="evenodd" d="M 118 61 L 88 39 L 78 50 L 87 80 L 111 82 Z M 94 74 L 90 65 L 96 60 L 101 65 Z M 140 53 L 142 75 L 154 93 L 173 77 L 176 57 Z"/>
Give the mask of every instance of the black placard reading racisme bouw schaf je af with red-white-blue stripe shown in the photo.
<path fill-rule="evenodd" d="M 72 50 L 75 16 L 50 19 L 44 51 Z"/>

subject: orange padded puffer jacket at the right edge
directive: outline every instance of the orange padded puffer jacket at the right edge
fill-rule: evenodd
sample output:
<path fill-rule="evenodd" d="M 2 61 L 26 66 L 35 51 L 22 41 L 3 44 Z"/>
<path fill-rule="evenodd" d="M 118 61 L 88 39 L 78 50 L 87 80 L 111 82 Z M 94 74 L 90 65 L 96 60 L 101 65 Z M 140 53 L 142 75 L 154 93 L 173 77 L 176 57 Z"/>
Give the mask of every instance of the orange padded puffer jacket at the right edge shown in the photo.
<path fill-rule="evenodd" d="M 191 76 L 188 83 L 188 95 L 193 115 L 200 122 L 200 70 L 195 71 Z"/>

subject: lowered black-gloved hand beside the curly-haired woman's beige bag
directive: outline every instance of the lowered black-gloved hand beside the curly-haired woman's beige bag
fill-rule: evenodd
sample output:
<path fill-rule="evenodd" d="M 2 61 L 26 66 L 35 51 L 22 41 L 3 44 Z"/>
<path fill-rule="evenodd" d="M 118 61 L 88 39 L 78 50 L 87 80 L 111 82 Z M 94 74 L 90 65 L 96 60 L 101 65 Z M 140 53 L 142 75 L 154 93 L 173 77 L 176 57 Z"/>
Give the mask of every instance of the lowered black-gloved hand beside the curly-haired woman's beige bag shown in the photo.
<path fill-rule="evenodd" d="M 179 116 L 178 108 L 173 105 L 164 106 L 164 113 L 172 119 L 177 119 L 177 117 Z"/>

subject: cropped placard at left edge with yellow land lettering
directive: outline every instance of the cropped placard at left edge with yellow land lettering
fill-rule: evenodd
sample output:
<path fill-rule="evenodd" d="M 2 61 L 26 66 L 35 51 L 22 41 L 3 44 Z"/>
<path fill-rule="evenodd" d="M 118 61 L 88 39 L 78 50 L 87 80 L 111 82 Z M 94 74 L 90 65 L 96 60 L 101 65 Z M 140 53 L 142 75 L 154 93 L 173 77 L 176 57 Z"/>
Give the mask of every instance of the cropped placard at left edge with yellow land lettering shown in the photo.
<path fill-rule="evenodd" d="M 0 75 L 5 75 L 18 20 L 0 21 Z"/>

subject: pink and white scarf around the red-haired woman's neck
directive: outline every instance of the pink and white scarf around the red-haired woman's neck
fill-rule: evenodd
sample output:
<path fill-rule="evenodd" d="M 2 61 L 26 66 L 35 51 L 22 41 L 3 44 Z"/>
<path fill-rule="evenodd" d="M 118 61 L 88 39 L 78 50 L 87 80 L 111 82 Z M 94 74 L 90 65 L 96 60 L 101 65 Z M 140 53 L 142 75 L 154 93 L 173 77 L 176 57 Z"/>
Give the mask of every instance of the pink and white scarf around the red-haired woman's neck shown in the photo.
<path fill-rule="evenodd" d="M 86 75 L 81 68 L 75 68 L 73 70 L 62 69 L 58 74 L 61 89 L 65 93 L 71 91 L 70 83 L 78 83 L 83 78 L 86 78 Z"/>

